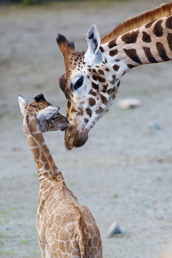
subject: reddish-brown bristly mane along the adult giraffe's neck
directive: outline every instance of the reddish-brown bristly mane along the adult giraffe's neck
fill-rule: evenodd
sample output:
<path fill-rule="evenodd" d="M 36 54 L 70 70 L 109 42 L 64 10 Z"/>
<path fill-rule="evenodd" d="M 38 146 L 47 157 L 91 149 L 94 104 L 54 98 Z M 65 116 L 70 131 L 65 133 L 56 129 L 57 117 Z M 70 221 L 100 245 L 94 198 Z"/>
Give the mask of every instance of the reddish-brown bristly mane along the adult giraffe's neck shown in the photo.
<path fill-rule="evenodd" d="M 137 28 L 149 22 L 156 21 L 164 16 L 172 14 L 172 2 L 162 4 L 153 10 L 146 11 L 135 17 L 118 24 L 109 34 L 101 38 L 101 44 L 107 43 L 120 35 Z"/>

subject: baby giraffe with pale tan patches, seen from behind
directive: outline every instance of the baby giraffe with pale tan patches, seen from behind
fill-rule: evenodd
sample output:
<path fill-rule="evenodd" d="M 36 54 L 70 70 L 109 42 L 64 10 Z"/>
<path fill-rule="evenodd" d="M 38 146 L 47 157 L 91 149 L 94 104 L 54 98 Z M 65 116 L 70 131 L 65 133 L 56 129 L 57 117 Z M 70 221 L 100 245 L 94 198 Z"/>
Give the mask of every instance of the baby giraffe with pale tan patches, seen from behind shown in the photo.
<path fill-rule="evenodd" d="M 66 187 L 42 135 L 45 131 L 64 131 L 70 123 L 42 93 L 34 99 L 28 105 L 27 99 L 18 96 L 23 130 L 40 182 L 36 226 L 42 258 L 101 258 L 101 237 L 93 215 Z"/>

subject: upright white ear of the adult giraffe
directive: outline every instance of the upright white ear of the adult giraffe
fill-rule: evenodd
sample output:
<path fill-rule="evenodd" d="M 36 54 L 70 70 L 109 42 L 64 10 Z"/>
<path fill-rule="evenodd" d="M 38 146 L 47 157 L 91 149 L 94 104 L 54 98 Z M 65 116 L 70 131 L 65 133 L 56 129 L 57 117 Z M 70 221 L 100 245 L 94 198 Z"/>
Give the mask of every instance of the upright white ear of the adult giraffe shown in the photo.
<path fill-rule="evenodd" d="M 85 58 L 92 60 L 92 62 L 101 62 L 101 51 L 99 49 L 101 39 L 95 24 L 93 24 L 88 31 L 86 40 L 88 42 L 88 50 L 85 53 Z"/>

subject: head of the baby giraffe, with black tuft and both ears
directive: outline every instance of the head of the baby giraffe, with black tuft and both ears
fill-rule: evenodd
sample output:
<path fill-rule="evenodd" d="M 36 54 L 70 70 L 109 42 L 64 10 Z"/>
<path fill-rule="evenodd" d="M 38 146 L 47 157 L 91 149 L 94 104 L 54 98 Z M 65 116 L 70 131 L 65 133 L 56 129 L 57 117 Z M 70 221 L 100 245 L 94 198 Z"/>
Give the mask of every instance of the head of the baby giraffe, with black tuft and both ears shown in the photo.
<path fill-rule="evenodd" d="M 23 116 L 33 112 L 42 132 L 56 130 L 65 131 L 70 126 L 67 118 L 58 112 L 60 108 L 52 106 L 51 103 L 46 101 L 42 93 L 37 95 L 34 99 L 35 101 L 28 105 L 27 99 L 19 95 L 18 104 Z"/>

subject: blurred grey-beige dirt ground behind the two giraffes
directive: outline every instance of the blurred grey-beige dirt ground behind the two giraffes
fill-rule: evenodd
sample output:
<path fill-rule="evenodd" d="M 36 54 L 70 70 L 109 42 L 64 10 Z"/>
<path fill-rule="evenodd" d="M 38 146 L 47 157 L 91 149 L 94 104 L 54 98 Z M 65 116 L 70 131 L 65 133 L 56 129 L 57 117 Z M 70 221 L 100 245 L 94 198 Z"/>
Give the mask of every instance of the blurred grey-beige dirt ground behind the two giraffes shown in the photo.
<path fill-rule="evenodd" d="M 41 257 L 36 233 L 39 182 L 17 95 L 31 102 L 43 92 L 65 115 L 66 99 L 58 86 L 65 67 L 57 33 L 74 40 L 76 50 L 84 50 L 92 24 L 104 36 L 117 23 L 161 2 L 1 6 L 0 257 Z M 97 222 L 104 258 L 170 257 L 160 253 L 172 242 L 171 71 L 172 62 L 165 62 L 127 72 L 111 110 L 81 149 L 66 152 L 63 132 L 44 133 L 67 186 Z M 123 97 L 138 98 L 142 105 L 122 111 L 116 103 Z M 108 238 L 114 221 L 123 234 Z"/>

